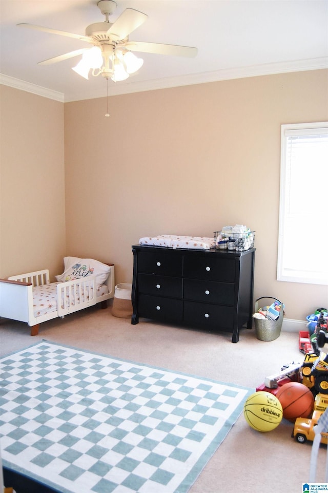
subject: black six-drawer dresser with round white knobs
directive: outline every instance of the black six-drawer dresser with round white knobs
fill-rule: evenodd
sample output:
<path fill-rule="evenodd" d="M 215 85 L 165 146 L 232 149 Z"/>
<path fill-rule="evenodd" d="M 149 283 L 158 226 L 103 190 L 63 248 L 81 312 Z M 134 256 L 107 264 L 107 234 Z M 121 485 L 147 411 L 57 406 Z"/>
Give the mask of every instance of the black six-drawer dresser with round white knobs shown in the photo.
<path fill-rule="evenodd" d="M 252 328 L 255 249 L 133 245 L 132 324 L 139 317 L 232 332 Z"/>

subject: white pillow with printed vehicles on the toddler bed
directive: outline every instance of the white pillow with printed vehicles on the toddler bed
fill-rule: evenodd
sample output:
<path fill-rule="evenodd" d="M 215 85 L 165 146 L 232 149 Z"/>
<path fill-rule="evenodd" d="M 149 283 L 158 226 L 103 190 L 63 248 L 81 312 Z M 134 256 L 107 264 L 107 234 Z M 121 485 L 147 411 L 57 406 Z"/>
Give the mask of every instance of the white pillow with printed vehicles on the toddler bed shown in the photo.
<path fill-rule="evenodd" d="M 111 268 L 105 263 L 93 258 L 64 257 L 64 272 L 55 278 L 57 281 L 65 282 L 95 275 L 97 286 L 101 286 L 106 282 L 110 270 Z"/>

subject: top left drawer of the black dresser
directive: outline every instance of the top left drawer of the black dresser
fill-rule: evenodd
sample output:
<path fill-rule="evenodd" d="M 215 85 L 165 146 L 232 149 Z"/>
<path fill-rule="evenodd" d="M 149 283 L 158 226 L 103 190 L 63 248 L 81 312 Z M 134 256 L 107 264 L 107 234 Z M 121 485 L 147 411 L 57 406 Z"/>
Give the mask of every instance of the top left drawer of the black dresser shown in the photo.
<path fill-rule="evenodd" d="M 182 255 L 168 255 L 161 251 L 139 252 L 138 272 L 182 277 Z"/>

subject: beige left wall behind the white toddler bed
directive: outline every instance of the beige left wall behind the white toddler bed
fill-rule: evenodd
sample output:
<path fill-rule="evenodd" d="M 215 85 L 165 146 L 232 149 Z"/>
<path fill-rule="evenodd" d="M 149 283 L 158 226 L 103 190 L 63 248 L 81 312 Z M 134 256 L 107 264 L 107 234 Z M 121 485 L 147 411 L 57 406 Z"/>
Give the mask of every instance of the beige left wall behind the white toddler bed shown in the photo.
<path fill-rule="evenodd" d="M 0 85 L 0 277 L 62 269 L 64 105 Z"/>

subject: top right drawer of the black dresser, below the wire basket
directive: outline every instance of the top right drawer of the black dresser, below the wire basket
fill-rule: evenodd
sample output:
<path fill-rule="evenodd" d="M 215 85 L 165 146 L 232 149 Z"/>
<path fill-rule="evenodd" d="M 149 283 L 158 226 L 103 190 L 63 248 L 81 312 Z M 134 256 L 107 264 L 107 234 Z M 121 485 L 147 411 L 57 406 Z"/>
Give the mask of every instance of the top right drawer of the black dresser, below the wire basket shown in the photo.
<path fill-rule="evenodd" d="M 192 256 L 185 256 L 183 261 L 183 277 L 192 279 L 234 282 L 235 270 L 234 258 L 215 258 L 215 255 L 200 255 L 197 259 Z"/>

